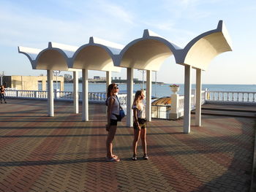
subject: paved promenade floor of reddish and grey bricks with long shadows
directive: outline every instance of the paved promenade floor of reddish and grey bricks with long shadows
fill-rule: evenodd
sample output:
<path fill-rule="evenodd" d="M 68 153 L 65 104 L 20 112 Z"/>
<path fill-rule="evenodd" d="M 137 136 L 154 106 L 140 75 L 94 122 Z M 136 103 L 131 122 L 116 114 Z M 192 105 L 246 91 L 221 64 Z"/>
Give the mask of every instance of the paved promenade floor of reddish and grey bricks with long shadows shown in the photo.
<path fill-rule="evenodd" d="M 118 125 L 105 162 L 105 105 L 89 105 L 89 122 L 72 103 L 8 99 L 0 104 L 0 191 L 249 191 L 255 118 L 202 115 L 148 123 L 149 160 L 131 161 L 133 129 Z M 142 149 L 138 149 L 142 156 Z"/>

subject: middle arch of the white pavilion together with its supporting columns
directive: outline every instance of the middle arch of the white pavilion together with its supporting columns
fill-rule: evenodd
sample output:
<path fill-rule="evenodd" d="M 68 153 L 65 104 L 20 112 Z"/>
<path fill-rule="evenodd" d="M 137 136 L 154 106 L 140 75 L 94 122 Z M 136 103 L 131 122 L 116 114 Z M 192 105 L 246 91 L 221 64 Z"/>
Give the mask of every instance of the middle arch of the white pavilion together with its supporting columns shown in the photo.
<path fill-rule="evenodd" d="M 106 85 L 111 83 L 111 72 L 120 72 L 121 68 L 114 66 L 116 55 L 120 53 L 123 45 L 108 42 L 96 37 L 90 37 L 89 44 L 82 45 L 75 52 L 69 67 L 82 69 L 83 76 L 83 120 L 89 120 L 88 99 L 88 70 L 106 72 Z M 106 87 L 106 90 L 107 90 Z"/>

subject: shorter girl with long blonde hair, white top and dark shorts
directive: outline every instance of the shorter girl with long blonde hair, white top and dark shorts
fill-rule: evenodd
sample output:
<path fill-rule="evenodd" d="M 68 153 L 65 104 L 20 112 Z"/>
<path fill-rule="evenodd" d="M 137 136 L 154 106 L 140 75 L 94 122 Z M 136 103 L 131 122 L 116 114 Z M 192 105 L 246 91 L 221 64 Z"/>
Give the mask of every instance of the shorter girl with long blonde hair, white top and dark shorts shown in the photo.
<path fill-rule="evenodd" d="M 133 156 L 132 160 L 137 160 L 137 146 L 138 140 L 141 139 L 142 147 L 143 147 L 143 159 L 148 160 L 147 149 L 146 149 L 146 110 L 145 105 L 143 104 L 143 99 L 145 99 L 145 95 L 143 91 L 137 91 L 135 93 L 135 99 L 133 101 L 132 110 L 134 116 L 134 139 L 132 143 L 133 147 Z"/>

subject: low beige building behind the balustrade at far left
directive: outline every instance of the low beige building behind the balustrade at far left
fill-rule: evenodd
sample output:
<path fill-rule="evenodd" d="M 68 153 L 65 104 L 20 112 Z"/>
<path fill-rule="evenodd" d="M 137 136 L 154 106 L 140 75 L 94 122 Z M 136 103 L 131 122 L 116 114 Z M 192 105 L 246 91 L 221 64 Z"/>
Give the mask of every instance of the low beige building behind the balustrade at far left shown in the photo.
<path fill-rule="evenodd" d="M 64 77 L 57 77 L 58 89 L 64 91 Z M 46 91 L 47 76 L 4 76 L 3 85 L 6 88 L 15 88 L 17 90 Z M 56 86 L 56 76 L 53 76 L 53 87 Z"/>

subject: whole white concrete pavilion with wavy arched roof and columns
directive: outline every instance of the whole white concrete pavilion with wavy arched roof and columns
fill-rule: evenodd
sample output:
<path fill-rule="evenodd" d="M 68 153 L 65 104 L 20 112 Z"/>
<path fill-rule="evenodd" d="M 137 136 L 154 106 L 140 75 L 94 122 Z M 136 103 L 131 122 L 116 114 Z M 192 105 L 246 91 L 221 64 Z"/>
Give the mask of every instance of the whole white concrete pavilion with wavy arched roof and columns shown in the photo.
<path fill-rule="evenodd" d="M 121 52 L 120 52 L 121 50 Z M 222 20 L 216 29 L 207 31 L 190 41 L 184 48 L 178 47 L 163 37 L 145 30 L 143 37 L 135 39 L 126 47 L 106 42 L 102 39 L 90 38 L 89 44 L 75 47 L 49 44 L 48 49 L 37 50 L 27 47 L 19 47 L 19 53 L 29 57 L 33 69 L 48 70 L 50 82 L 50 70 L 83 69 L 83 120 L 88 120 L 88 70 L 101 70 L 107 73 L 107 85 L 110 84 L 110 71 L 115 71 L 115 66 L 127 68 L 127 126 L 132 126 L 132 93 L 133 93 L 133 69 L 147 71 L 147 106 L 146 116 L 151 120 L 151 71 L 159 70 L 165 58 L 173 55 L 176 64 L 184 66 L 184 133 L 190 132 L 191 111 L 191 71 L 196 69 L 196 121 L 195 125 L 201 125 L 201 72 L 206 70 L 211 60 L 226 51 L 232 50 L 230 38 Z M 64 52 L 65 51 L 65 52 Z M 74 53 L 75 51 L 75 53 Z M 74 53 L 71 56 L 69 53 Z M 52 84 L 52 83 L 49 83 Z M 50 86 L 48 85 L 48 90 Z M 48 98 L 52 98 L 48 93 Z M 51 101 L 49 101 L 49 106 Z M 51 109 L 51 108 L 50 108 Z M 50 110 L 52 112 L 53 110 Z"/>

